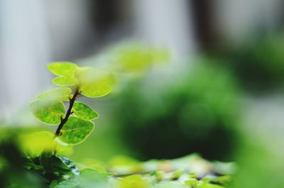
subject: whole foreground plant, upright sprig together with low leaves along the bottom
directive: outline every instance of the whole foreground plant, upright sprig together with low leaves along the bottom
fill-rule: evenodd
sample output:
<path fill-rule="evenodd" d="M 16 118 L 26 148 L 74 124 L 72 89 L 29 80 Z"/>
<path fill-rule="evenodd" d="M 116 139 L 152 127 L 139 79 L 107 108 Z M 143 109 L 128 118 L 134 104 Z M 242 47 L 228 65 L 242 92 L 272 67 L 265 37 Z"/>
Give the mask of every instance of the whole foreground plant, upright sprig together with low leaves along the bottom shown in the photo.
<path fill-rule="evenodd" d="M 227 165 L 220 167 L 198 155 L 147 162 L 119 156 L 104 165 L 73 162 L 66 155 L 72 153 L 73 145 L 87 139 L 93 120 L 99 118 L 97 111 L 76 100 L 82 95 L 109 94 L 114 76 L 71 62 L 52 63 L 48 70 L 57 76 L 52 82 L 59 87 L 38 94 L 29 107 L 38 121 L 57 125 L 56 131 L 1 140 L 0 187 L 222 188 L 229 182 L 233 169 L 228 171 L 223 168 Z"/>

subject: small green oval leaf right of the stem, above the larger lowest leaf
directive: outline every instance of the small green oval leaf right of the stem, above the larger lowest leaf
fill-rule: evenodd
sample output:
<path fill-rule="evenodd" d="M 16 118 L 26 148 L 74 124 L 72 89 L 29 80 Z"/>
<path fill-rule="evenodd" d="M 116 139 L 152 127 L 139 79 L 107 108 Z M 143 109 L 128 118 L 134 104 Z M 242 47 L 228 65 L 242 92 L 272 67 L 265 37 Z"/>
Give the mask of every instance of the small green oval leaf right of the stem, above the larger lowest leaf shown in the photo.
<path fill-rule="evenodd" d="M 82 102 L 75 102 L 72 112 L 79 118 L 83 118 L 86 120 L 99 118 L 99 114 L 97 114 L 96 111 L 94 111 L 92 108 Z"/>

